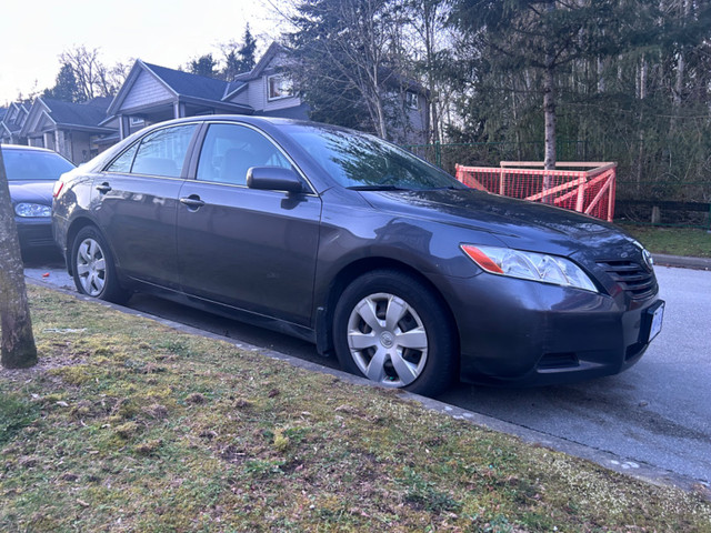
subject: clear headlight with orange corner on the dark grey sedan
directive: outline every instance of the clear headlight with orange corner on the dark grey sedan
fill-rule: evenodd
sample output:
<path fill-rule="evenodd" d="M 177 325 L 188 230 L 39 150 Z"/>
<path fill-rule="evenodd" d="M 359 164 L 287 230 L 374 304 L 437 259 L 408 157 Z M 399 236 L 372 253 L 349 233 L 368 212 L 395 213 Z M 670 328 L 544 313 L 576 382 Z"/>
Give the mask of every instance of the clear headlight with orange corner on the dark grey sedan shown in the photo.
<path fill-rule="evenodd" d="M 487 272 L 598 292 L 580 266 L 568 259 L 510 248 L 462 244 L 462 251 Z"/>

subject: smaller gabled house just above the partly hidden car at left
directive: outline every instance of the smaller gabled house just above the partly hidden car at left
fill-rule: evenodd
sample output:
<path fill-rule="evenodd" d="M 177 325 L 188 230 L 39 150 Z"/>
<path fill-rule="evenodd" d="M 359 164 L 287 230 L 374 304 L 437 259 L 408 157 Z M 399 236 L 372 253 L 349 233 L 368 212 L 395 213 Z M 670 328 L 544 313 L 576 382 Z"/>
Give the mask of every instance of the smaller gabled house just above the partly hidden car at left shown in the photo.
<path fill-rule="evenodd" d="M 89 161 L 101 151 L 98 142 L 114 133 L 112 128 L 100 125 L 109 102 L 109 98 L 71 103 L 38 97 L 20 135 L 29 145 L 54 150 L 74 164 Z"/>

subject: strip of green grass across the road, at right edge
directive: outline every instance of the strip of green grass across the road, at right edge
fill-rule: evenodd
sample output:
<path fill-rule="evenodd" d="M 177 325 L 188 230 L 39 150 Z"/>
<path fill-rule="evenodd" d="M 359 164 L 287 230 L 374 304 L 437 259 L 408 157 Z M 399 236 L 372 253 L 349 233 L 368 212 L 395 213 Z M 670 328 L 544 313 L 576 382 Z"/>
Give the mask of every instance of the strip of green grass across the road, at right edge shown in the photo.
<path fill-rule="evenodd" d="M 691 228 L 620 224 L 652 253 L 711 258 L 711 232 Z"/>

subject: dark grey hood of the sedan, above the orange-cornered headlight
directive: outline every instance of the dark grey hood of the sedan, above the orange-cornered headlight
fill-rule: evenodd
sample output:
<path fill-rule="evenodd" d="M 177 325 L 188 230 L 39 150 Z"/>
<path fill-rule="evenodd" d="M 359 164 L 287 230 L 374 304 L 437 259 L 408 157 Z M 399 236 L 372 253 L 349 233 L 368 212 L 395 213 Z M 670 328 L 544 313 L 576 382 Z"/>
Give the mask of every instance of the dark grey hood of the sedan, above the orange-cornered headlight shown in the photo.
<path fill-rule="evenodd" d="M 367 191 L 374 208 L 495 235 L 518 250 L 570 255 L 589 250 L 633 243 L 608 222 L 542 203 L 515 200 L 482 191 Z"/>

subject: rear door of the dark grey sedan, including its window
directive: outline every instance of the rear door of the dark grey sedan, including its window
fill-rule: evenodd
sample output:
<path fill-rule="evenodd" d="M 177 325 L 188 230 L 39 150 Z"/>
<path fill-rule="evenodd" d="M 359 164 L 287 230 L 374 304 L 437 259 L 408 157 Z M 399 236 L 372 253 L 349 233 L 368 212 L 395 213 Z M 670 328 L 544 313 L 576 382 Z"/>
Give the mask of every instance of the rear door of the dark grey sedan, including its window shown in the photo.
<path fill-rule="evenodd" d="M 197 123 L 148 133 L 93 182 L 93 213 L 121 271 L 177 289 L 176 213 Z"/>

